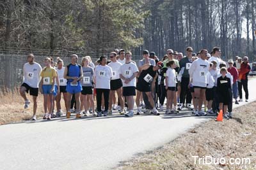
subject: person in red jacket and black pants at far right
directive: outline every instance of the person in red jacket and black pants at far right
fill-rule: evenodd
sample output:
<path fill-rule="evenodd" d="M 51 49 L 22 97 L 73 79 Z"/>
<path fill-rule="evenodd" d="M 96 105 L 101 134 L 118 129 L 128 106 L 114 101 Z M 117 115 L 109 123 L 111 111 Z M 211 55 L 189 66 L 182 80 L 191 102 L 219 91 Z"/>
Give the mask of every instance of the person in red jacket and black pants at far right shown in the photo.
<path fill-rule="evenodd" d="M 239 91 L 239 101 L 243 102 L 243 92 L 242 92 L 242 86 L 245 92 L 245 101 L 248 102 L 249 92 L 248 92 L 248 74 L 251 70 L 251 67 L 248 63 L 248 57 L 245 56 L 243 58 L 243 62 L 241 63 L 241 68 L 239 71 L 239 78 L 241 80 L 238 80 L 238 91 Z"/>

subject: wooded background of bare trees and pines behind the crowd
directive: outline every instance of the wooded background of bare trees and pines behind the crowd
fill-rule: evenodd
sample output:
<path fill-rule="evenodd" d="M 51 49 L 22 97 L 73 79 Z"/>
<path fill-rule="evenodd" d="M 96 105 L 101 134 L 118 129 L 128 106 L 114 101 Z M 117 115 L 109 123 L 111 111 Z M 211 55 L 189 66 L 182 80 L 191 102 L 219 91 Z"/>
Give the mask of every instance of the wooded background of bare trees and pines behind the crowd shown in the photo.
<path fill-rule="evenodd" d="M 255 0 L 0 0 L 0 53 L 140 56 L 147 48 L 161 58 L 168 48 L 220 46 L 224 60 L 252 62 L 255 10 Z"/>

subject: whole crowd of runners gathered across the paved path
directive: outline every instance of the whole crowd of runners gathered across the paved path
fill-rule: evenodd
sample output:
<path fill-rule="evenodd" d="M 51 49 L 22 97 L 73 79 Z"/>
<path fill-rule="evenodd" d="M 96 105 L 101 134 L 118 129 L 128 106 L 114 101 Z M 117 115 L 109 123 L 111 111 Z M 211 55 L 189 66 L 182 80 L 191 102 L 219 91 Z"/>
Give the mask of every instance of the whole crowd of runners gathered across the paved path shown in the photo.
<path fill-rule="evenodd" d="M 228 119 L 232 118 L 233 98 L 236 104 L 243 101 L 242 88 L 245 101 L 248 101 L 248 57 L 243 57 L 243 61 L 236 57 L 236 62 L 230 59 L 227 66 L 221 60 L 219 47 L 214 47 L 211 53 L 205 49 L 193 53 L 189 46 L 185 57 L 183 53 L 168 49 L 162 61 L 155 52 L 143 50 L 143 59 L 138 66 L 132 60 L 132 53 L 124 49 L 109 53 L 109 60 L 102 55 L 95 64 L 90 56 L 79 62 L 76 54 L 71 55 L 71 62 L 66 67 L 60 58 L 55 63 L 47 57 L 44 62 L 42 69 L 35 62 L 35 56 L 29 54 L 23 68 L 20 95 L 25 101 L 24 108 L 31 103 L 26 92 L 33 96 L 33 120 L 36 120 L 38 90 L 44 95 L 44 118 L 48 120 L 63 115 L 61 94 L 67 118 L 70 118 L 74 104 L 76 118 L 87 117 L 90 113 L 94 117 L 107 117 L 113 110 L 132 117 L 134 103 L 136 115 L 140 115 L 143 108 L 146 114 L 159 115 L 159 111 L 164 111 L 166 101 L 165 114 L 179 113 L 187 108 L 196 116 L 205 116 L 223 110 Z"/>

